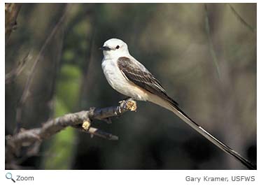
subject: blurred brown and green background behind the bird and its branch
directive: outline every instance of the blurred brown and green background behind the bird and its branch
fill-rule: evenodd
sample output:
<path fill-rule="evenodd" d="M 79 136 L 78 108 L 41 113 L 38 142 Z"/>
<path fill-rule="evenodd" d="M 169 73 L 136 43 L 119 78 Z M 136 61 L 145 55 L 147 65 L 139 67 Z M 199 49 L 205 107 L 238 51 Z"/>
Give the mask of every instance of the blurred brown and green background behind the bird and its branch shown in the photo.
<path fill-rule="evenodd" d="M 19 6 L 6 38 L 6 74 L 22 64 L 6 80 L 6 135 L 92 106 L 117 106 L 125 96 L 108 85 L 98 48 L 120 38 L 185 113 L 256 164 L 256 3 Z M 136 113 L 112 121 L 92 125 L 118 141 L 68 127 L 6 169 L 246 169 L 153 103 L 138 102 Z"/>

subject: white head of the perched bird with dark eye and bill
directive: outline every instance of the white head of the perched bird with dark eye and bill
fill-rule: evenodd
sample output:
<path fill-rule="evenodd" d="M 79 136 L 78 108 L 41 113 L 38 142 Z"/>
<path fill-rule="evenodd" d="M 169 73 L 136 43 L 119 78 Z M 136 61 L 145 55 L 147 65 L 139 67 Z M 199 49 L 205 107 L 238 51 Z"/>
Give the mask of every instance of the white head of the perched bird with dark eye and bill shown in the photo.
<path fill-rule="evenodd" d="M 118 38 L 105 41 L 100 49 L 104 52 L 104 58 L 118 58 L 129 55 L 127 44 Z"/>

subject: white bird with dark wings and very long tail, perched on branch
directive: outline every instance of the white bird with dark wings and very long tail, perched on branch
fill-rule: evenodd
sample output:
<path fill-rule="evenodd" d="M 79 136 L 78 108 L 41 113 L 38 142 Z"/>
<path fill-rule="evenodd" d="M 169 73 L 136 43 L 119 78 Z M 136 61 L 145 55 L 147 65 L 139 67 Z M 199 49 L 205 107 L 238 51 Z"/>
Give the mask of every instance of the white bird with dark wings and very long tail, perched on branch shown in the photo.
<path fill-rule="evenodd" d="M 105 41 L 100 50 L 103 51 L 104 55 L 101 68 L 108 84 L 114 90 L 136 101 L 150 101 L 170 110 L 199 134 L 202 134 L 211 143 L 237 159 L 248 169 L 256 169 L 255 164 L 252 164 L 228 145 L 209 134 L 208 131 L 183 112 L 178 103 L 171 99 L 164 90 L 160 81 L 143 64 L 129 54 L 127 43 L 119 38 L 111 38 Z"/>

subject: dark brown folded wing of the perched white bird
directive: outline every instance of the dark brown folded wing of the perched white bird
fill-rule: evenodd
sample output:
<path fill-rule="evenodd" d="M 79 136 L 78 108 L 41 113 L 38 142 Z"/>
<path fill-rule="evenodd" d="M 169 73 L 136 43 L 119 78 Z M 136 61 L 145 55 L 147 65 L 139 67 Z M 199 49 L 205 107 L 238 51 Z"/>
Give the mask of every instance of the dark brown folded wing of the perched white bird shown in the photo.
<path fill-rule="evenodd" d="M 127 80 L 152 94 L 160 96 L 162 99 L 169 101 L 172 105 L 178 106 L 178 103 L 167 95 L 167 92 L 153 74 L 148 70 L 144 70 L 144 66 L 139 66 L 139 64 L 136 64 L 128 57 L 119 57 L 117 64 Z"/>

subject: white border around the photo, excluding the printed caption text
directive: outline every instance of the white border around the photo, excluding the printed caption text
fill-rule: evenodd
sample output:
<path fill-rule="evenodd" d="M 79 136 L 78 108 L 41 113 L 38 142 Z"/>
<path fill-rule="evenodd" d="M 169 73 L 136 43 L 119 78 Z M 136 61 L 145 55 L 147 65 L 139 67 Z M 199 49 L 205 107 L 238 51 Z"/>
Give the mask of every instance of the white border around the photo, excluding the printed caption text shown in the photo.
<path fill-rule="evenodd" d="M 8 1 L 8 2 L 16 2 L 16 3 L 22 3 L 24 1 Z M 53 3 L 53 1 L 27 1 L 28 3 Z M 73 3 L 83 3 L 83 1 L 56 1 L 57 3 L 65 3 L 65 2 L 73 2 Z M 201 1 L 85 1 L 86 3 L 101 3 L 101 2 L 110 2 L 110 3 L 148 3 L 148 2 L 168 2 L 168 3 L 202 3 Z M 206 2 L 206 1 L 204 1 Z M 227 3 L 227 1 L 207 1 L 208 3 Z M 257 3 L 257 1 L 230 1 L 231 3 Z M 258 3 L 258 10 L 260 10 L 260 5 Z M 257 11 L 258 20 L 260 20 L 260 13 Z M 4 2 L 1 2 L 1 56 L 5 56 L 5 38 L 4 38 Z M 257 30 L 260 30 L 260 24 L 258 24 Z M 260 38 L 258 38 L 258 43 L 260 43 Z M 258 44 L 257 43 L 257 44 Z M 257 53 L 260 54 L 260 50 L 258 48 Z M 259 62 L 259 56 L 257 58 L 257 62 Z M 5 170 L 5 106 L 3 103 L 5 103 L 5 83 L 4 83 L 4 74 L 5 74 L 5 59 L 1 60 L 1 91 L 0 91 L 0 101 L 1 101 L 1 125 L 0 125 L 0 133 L 2 140 L 0 141 L 0 145 L 2 149 L 0 150 L 0 159 L 1 159 L 1 172 L 0 172 L 0 183 L 1 185 L 78 185 L 79 183 L 82 183 L 84 185 L 261 185 L 260 178 L 258 178 L 261 175 L 260 171 L 25 171 L 25 170 L 15 170 L 15 171 L 6 171 Z M 260 65 L 257 64 L 258 68 L 258 83 L 260 82 Z M 260 86 L 257 87 L 258 94 L 260 94 Z M 260 99 L 258 100 L 258 106 L 260 105 Z M 259 107 L 258 107 L 259 108 Z M 257 108 L 257 123 L 260 122 L 260 109 Z M 258 136 L 260 136 L 260 130 L 258 129 Z M 259 141 L 259 137 L 257 136 L 257 140 Z M 259 143 L 258 143 L 259 144 Z M 258 145 L 258 157 L 260 157 L 260 145 Z M 259 158 L 258 158 L 258 164 L 259 164 Z M 19 183 L 13 183 L 11 180 L 6 179 L 6 173 L 11 172 L 14 176 L 21 175 L 21 176 L 34 176 L 34 181 L 20 181 Z M 186 182 L 185 176 L 192 176 L 192 177 L 203 177 L 203 176 L 224 176 L 224 177 L 231 177 L 231 176 L 255 176 L 255 181 L 253 182 L 200 182 L 200 183 L 193 183 L 193 182 Z M 203 179 L 203 178 L 202 178 Z"/>

